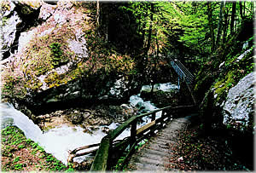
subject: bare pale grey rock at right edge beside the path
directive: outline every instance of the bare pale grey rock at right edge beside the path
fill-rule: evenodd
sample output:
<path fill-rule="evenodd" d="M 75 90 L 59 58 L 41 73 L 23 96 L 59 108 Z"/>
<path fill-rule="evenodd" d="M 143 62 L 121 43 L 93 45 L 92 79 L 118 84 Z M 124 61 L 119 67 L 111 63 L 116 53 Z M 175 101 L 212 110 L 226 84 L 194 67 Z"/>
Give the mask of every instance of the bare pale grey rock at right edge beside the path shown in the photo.
<path fill-rule="evenodd" d="M 250 122 L 253 122 L 253 104 L 255 101 L 253 86 L 256 83 L 253 75 L 255 72 L 249 73 L 229 90 L 223 110 L 225 125 L 243 130 L 243 128 L 247 128 Z"/>

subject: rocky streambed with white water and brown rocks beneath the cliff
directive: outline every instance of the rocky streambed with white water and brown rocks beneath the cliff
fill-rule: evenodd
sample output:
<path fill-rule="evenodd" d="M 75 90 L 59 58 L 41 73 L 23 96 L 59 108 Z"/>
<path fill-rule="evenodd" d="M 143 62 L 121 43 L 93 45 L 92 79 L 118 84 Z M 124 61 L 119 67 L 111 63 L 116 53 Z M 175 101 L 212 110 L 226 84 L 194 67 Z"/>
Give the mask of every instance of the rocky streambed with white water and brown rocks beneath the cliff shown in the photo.
<path fill-rule="evenodd" d="M 166 95 L 169 95 L 169 92 L 166 92 Z M 24 132 L 26 138 L 38 142 L 47 153 L 52 153 L 56 159 L 67 164 L 68 151 L 99 143 L 109 130 L 115 129 L 126 119 L 156 108 L 152 102 L 143 101 L 143 98 L 138 94 L 132 95 L 129 103 L 119 106 L 102 104 L 86 108 L 63 108 L 40 114 L 36 116 L 35 122 L 38 122 L 37 124 L 34 124 L 31 119 L 12 105 L 1 103 L 1 118 L 2 128 L 7 125 L 16 125 Z M 146 123 L 147 119 L 144 121 Z M 143 125 L 143 123 L 139 125 Z M 125 130 L 119 139 L 129 135 L 130 130 Z M 80 157 L 75 158 L 74 162 L 82 163 L 84 160 L 85 157 Z"/>

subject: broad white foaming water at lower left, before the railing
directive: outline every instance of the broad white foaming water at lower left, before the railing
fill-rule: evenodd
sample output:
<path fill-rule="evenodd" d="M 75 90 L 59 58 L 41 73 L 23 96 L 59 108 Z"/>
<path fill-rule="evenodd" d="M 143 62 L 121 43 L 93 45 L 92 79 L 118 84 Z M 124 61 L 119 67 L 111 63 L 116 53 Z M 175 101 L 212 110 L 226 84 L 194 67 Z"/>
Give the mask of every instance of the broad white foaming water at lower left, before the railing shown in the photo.
<path fill-rule="evenodd" d="M 14 124 L 22 130 L 26 138 L 38 142 L 47 153 L 52 153 L 56 159 L 67 164 L 68 150 L 77 147 L 99 143 L 103 136 L 106 136 L 102 130 L 96 130 L 93 135 L 84 133 L 81 127 L 68 127 L 61 125 L 47 132 L 41 131 L 38 125 L 34 124 L 25 114 L 17 111 L 13 106 L 7 103 L 0 103 L 2 128 L 6 124 Z M 114 128 L 114 124 L 112 128 Z"/>

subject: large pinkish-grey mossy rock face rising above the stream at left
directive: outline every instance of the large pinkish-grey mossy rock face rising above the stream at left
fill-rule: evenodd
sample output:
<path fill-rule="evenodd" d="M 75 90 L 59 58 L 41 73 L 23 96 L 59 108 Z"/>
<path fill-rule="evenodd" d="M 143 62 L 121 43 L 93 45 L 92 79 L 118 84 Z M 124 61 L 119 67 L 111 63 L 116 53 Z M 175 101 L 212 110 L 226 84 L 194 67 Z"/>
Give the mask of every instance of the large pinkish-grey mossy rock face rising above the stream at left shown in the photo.
<path fill-rule="evenodd" d="M 8 5 L 3 51 L 9 52 L 15 42 L 17 48 L 8 61 L 0 63 L 3 99 L 41 107 L 76 99 L 99 100 L 104 95 L 123 96 L 112 95 L 111 87 L 118 85 L 114 84 L 118 78 L 126 84 L 127 75 L 124 78 L 122 74 L 129 74 L 134 63 L 129 55 L 113 55 L 104 47 L 96 32 L 94 3 L 9 1 Z M 26 26 L 28 17 L 38 22 Z M 17 34 L 20 22 L 26 32 Z M 123 84 L 118 89 L 123 89 Z"/>

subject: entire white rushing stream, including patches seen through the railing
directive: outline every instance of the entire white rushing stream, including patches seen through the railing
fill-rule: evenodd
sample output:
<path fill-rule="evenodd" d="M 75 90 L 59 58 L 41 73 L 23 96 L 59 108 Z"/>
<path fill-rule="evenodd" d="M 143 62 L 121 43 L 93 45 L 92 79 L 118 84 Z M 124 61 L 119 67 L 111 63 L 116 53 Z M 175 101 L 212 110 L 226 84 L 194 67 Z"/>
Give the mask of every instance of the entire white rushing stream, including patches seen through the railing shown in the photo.
<path fill-rule="evenodd" d="M 176 85 L 175 85 L 176 86 Z M 157 89 L 168 90 L 175 88 L 173 84 L 158 84 Z M 143 89 L 148 89 L 148 85 L 143 86 Z M 157 109 L 150 101 L 143 101 L 138 95 L 132 95 L 130 98 L 130 104 L 133 107 L 139 108 L 140 112 L 149 112 Z M 39 129 L 37 124 L 34 124 L 31 119 L 27 118 L 25 114 L 16 110 L 9 103 L 0 103 L 1 108 L 1 128 L 5 128 L 8 125 L 16 125 L 22 130 L 26 138 L 30 138 L 41 147 L 47 153 L 52 153 L 56 159 L 61 160 L 64 164 L 67 164 L 68 150 L 73 150 L 77 147 L 90 145 L 93 143 L 99 143 L 103 136 L 106 136 L 102 132 L 102 126 L 99 130 L 94 131 L 93 134 L 83 132 L 83 128 L 79 126 L 69 127 L 67 125 L 61 125 L 54 129 L 43 132 Z M 160 116 L 160 112 L 157 113 L 156 117 Z M 143 119 L 143 124 L 148 122 L 148 118 Z M 143 124 L 139 124 L 142 126 Z M 110 124 L 107 126 L 110 130 L 115 129 L 119 124 Z M 125 136 L 129 136 L 130 131 L 125 130 L 118 139 L 123 139 Z M 75 159 L 74 161 L 81 162 L 83 158 Z"/>

